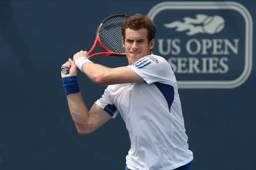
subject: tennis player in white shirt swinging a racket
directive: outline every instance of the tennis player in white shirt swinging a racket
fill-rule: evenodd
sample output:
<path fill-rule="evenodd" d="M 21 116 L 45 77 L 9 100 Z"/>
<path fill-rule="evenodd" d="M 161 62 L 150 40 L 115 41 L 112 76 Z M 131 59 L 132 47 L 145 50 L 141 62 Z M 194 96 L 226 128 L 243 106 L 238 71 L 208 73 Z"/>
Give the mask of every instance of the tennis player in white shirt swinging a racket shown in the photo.
<path fill-rule="evenodd" d="M 136 14 L 122 26 L 122 44 L 128 66 L 107 68 L 95 64 L 87 51 L 79 51 L 62 67 L 70 113 L 80 134 L 89 134 L 118 113 L 131 139 L 126 170 L 192 170 L 177 81 L 163 57 L 151 54 L 156 26 L 145 15 Z M 90 111 L 77 80 L 79 68 L 93 82 L 108 85 Z"/>

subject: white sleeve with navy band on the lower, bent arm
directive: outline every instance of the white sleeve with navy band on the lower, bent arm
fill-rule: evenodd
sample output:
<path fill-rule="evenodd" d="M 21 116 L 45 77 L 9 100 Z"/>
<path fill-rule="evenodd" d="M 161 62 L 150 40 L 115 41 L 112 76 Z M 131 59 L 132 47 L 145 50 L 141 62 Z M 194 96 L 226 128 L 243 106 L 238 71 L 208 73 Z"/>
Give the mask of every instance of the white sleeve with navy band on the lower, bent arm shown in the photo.
<path fill-rule="evenodd" d="M 113 104 L 110 94 L 111 94 L 110 88 L 106 88 L 102 97 L 98 99 L 95 102 L 95 104 L 98 105 L 100 108 L 102 108 L 104 111 L 106 111 L 108 114 L 110 114 L 114 119 L 116 115 L 119 113 L 119 111 L 117 110 L 116 106 Z"/>

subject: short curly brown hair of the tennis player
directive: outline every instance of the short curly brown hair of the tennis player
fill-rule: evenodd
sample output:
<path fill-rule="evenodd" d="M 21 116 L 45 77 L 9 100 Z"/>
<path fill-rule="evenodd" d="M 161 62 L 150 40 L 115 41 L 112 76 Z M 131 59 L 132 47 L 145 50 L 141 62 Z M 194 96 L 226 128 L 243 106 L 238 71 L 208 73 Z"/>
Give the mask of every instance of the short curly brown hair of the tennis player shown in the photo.
<path fill-rule="evenodd" d="M 132 30 L 139 30 L 141 28 L 146 28 L 148 30 L 148 43 L 155 38 L 157 28 L 153 21 L 143 14 L 135 14 L 129 17 L 122 25 L 122 37 L 125 40 L 125 30 L 130 28 Z"/>

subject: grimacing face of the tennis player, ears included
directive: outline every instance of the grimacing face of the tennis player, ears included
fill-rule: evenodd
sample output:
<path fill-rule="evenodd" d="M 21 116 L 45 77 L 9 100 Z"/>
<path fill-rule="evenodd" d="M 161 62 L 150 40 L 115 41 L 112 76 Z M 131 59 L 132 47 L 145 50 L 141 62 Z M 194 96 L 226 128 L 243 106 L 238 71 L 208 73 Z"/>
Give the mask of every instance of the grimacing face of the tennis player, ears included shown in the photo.
<path fill-rule="evenodd" d="M 148 30 L 146 28 L 137 31 L 127 28 L 125 30 L 125 40 L 122 39 L 122 44 L 129 65 L 132 65 L 142 57 L 150 55 L 150 50 L 154 47 L 154 39 L 148 43 Z"/>

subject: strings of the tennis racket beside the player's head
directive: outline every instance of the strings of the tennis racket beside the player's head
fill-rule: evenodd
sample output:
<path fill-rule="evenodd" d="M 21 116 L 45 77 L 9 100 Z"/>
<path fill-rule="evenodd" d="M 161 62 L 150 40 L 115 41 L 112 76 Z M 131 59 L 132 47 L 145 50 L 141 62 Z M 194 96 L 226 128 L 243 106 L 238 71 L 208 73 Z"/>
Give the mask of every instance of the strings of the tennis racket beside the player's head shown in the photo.
<path fill-rule="evenodd" d="M 106 20 L 99 31 L 99 39 L 102 45 L 110 51 L 125 54 L 122 46 L 122 24 L 126 17 L 112 17 Z"/>

